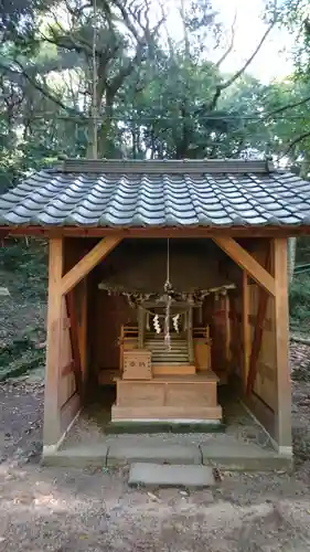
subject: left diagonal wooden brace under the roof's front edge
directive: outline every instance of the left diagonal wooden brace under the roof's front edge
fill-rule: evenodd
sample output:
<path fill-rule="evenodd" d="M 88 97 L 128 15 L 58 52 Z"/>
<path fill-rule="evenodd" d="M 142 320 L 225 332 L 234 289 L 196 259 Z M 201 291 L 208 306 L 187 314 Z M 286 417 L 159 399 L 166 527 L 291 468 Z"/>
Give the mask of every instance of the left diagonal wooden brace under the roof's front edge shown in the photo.
<path fill-rule="evenodd" d="M 62 294 L 65 295 L 71 291 L 78 282 L 85 278 L 85 276 L 87 276 L 87 274 L 119 244 L 120 241 L 119 237 L 114 236 L 103 237 L 93 250 L 86 253 L 86 255 L 63 276 L 61 287 Z"/>

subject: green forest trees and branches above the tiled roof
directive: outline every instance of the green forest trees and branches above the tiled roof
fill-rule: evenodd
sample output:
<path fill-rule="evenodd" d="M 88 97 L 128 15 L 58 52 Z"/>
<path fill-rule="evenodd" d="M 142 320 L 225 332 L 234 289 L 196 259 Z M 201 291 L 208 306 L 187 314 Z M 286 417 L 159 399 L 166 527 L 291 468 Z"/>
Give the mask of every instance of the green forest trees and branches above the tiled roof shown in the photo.
<path fill-rule="evenodd" d="M 62 157 L 94 155 L 272 157 L 308 174 L 308 0 L 266 2 L 265 31 L 232 73 L 223 65 L 234 51 L 237 14 L 227 28 L 216 2 L 175 1 L 177 40 L 165 6 L 2 0 L 0 191 Z M 295 68 L 266 84 L 250 67 L 276 28 L 299 38 Z"/>

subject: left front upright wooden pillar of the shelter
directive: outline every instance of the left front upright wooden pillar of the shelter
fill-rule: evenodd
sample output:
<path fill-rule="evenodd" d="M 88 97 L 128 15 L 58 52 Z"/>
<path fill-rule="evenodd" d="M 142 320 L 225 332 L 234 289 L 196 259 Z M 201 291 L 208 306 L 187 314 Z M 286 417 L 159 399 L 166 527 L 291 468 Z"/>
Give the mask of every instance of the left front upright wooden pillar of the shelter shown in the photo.
<path fill-rule="evenodd" d="M 49 259 L 49 304 L 46 325 L 46 372 L 44 399 L 44 446 L 56 445 L 62 436 L 61 405 L 60 405 L 60 376 L 62 354 L 62 302 L 61 290 L 63 276 L 63 238 L 50 240 Z"/>

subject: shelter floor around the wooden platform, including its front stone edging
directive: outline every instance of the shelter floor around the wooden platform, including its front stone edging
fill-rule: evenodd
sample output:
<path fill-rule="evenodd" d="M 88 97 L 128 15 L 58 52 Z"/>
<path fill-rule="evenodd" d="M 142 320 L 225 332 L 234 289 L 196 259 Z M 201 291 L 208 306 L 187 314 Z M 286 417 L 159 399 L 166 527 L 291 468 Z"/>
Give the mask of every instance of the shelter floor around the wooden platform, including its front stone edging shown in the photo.
<path fill-rule="evenodd" d="M 245 406 L 220 389 L 225 423 L 217 432 L 175 431 L 136 433 L 126 428 L 111 433 L 110 406 L 114 388 L 104 388 L 86 406 L 55 453 L 43 454 L 43 463 L 61 466 L 113 467 L 132 461 L 204 464 L 226 470 L 290 469 L 291 456 L 279 455 L 268 434 Z M 154 431 L 154 429 L 153 429 Z"/>

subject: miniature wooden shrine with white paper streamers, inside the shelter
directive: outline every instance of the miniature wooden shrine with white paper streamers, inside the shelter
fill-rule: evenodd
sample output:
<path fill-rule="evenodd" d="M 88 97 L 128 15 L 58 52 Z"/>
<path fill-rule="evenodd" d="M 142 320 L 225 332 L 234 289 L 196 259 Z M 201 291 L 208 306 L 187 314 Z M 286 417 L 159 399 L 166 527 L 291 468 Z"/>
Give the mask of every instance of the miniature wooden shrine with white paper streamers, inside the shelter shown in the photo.
<path fill-rule="evenodd" d="M 111 275 L 108 267 L 109 277 L 99 284 L 103 290 L 124 295 L 135 309 L 137 320 L 136 325 L 121 326 L 111 421 L 218 423 L 222 420 L 222 407 L 217 403 L 220 378 L 212 370 L 210 327 L 203 326 L 202 309 L 207 296 L 224 297 L 235 285 L 226 283 L 223 275 L 218 277 L 217 270 L 216 287 L 193 288 L 191 254 L 175 245 L 171 250 L 167 240 L 153 246 L 152 252 L 143 252 L 141 256 L 147 263 L 139 268 L 140 283 L 130 278 L 122 266 L 121 284 L 118 270 Z M 162 278 L 161 290 L 159 279 L 154 282 L 150 270 L 154 256 Z M 129 272 L 132 263 L 130 255 Z M 211 285 L 210 266 L 204 265 L 201 261 L 201 272 L 205 269 Z M 117 262 L 114 266 L 118 266 Z M 188 266 L 188 276 L 182 282 L 183 266 Z M 135 287 L 131 287 L 132 280 Z M 194 284 L 199 286 L 197 282 Z M 193 325 L 194 319 L 197 327 Z"/>

